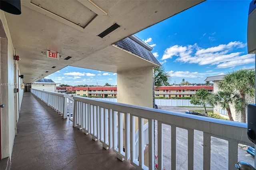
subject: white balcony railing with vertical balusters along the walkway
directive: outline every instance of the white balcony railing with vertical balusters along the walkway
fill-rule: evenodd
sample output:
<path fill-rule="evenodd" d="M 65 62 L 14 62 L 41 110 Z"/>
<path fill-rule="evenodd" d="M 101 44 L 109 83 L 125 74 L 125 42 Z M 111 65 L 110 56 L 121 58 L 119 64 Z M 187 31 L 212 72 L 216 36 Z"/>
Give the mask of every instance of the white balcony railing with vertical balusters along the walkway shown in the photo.
<path fill-rule="evenodd" d="M 39 91 L 31 89 L 31 92 L 52 107 L 64 106 L 65 96 L 60 93 Z M 55 96 L 55 97 L 54 97 Z M 215 154 L 213 138 L 225 140 L 227 150 L 220 148 L 216 157 L 226 153 L 226 167 L 222 169 L 234 169 L 238 162 L 238 144 L 252 145 L 247 138 L 247 124 L 234 121 L 225 121 L 210 117 L 200 117 L 184 113 L 164 111 L 147 107 L 139 107 L 116 102 L 100 101 L 87 97 L 74 96 L 73 126 L 83 130 L 84 133 L 92 135 L 94 140 L 100 140 L 103 147 L 112 148 L 120 160 L 130 160 L 137 169 L 154 170 L 154 154 L 158 155 L 158 169 L 163 169 L 164 152 L 170 150 L 170 164 L 168 168 L 178 168 L 179 130 L 183 129 L 182 137 L 187 140 L 186 167 L 192 170 L 196 161 L 201 159 L 201 169 L 212 168 L 216 164 L 213 161 Z M 154 125 L 156 125 L 154 127 Z M 147 128 L 148 126 L 148 128 Z M 164 139 L 168 134 L 166 126 L 171 127 L 170 144 L 164 145 Z M 155 129 L 155 138 L 154 138 Z M 202 132 L 200 140 L 202 144 L 196 143 L 198 131 Z M 136 134 L 137 132 L 137 134 Z M 138 135 L 138 137 L 137 137 Z M 154 141 L 155 139 L 155 141 Z M 183 138 L 182 138 L 183 139 Z M 154 148 L 154 143 L 156 143 Z M 144 149 L 148 145 L 148 166 L 144 164 Z M 202 154 L 197 146 L 202 147 Z M 125 148 L 125 149 L 124 149 Z M 155 150 L 154 150 L 155 149 Z M 182 156 L 183 157 L 183 156 Z M 246 160 L 244 160 L 246 161 Z M 185 164 L 182 162 L 182 164 Z M 252 163 L 251 163 L 252 164 Z M 198 168 L 196 168 L 198 169 Z"/>

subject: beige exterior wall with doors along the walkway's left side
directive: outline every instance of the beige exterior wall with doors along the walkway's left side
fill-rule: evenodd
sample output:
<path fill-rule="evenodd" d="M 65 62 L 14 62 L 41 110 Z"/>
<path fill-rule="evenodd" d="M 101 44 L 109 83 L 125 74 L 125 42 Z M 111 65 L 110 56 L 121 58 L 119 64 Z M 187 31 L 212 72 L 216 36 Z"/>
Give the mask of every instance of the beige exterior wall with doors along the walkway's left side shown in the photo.
<path fill-rule="evenodd" d="M 0 64 L 1 64 L 1 139 L 2 139 L 2 158 L 11 157 L 14 138 L 16 135 L 16 121 L 20 111 L 23 92 L 20 84 L 22 79 L 18 77 L 20 74 L 18 61 L 13 59 L 14 47 L 8 30 L 8 25 L 4 12 L 0 10 Z M 17 54 L 18 55 L 18 54 Z M 15 67 L 14 67 L 15 65 Z M 16 77 L 15 77 L 16 75 Z M 14 88 L 18 88 L 19 92 L 14 93 Z M 16 104 L 15 104 L 16 103 Z"/>

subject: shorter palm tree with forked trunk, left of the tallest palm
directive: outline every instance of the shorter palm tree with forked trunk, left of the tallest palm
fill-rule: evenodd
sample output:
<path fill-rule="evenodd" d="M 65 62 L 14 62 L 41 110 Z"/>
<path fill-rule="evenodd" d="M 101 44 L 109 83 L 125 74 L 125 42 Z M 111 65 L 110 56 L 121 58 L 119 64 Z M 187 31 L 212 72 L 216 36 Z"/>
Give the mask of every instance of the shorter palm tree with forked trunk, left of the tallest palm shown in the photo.
<path fill-rule="evenodd" d="M 212 106 L 220 105 L 222 109 L 226 109 L 230 121 L 234 121 L 231 114 L 230 105 L 234 104 L 236 111 L 244 110 L 242 107 L 244 101 L 240 95 L 238 93 L 230 93 L 229 91 L 218 91 L 218 93 L 211 94 L 208 97 L 207 103 Z"/>

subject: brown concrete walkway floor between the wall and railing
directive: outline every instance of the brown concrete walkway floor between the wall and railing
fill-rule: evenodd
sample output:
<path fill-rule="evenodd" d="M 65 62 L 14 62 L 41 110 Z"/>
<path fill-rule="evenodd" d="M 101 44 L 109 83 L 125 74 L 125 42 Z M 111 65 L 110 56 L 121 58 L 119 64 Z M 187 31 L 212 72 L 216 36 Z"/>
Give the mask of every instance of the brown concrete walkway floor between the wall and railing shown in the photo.
<path fill-rule="evenodd" d="M 24 92 L 17 132 L 11 170 L 136 169 L 29 92 Z"/>

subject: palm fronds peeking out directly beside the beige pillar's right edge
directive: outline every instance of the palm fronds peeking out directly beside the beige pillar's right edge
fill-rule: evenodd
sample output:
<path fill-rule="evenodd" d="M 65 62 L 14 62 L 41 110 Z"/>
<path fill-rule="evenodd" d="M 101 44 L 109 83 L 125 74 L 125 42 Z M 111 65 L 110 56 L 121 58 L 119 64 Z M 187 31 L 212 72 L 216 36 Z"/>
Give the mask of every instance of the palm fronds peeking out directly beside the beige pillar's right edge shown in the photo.
<path fill-rule="evenodd" d="M 154 68 L 154 85 L 158 88 L 160 86 L 168 86 L 170 75 L 164 70 L 164 67 L 155 67 Z"/>

